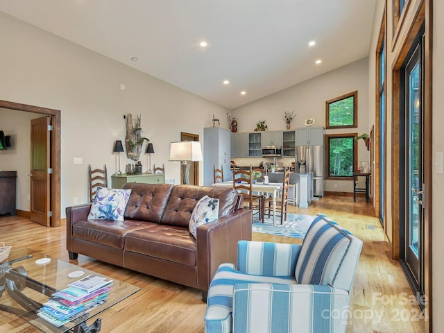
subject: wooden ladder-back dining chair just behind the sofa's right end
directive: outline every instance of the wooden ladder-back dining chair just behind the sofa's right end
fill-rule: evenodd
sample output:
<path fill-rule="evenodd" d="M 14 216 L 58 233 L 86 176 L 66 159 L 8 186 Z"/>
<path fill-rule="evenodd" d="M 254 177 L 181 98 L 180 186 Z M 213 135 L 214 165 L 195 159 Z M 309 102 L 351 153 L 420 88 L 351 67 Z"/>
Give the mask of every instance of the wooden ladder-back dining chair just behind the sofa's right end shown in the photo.
<path fill-rule="evenodd" d="M 233 188 L 244 197 L 244 207 L 250 210 L 257 210 L 259 219 L 262 217 L 262 205 L 264 196 L 253 194 L 253 169 L 233 170 Z"/>

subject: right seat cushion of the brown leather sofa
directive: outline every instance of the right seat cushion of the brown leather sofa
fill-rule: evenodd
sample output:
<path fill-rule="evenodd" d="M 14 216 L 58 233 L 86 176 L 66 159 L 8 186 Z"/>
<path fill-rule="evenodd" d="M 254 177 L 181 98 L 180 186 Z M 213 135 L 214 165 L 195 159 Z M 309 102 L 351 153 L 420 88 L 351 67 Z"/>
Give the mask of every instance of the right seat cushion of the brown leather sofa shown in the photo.
<path fill-rule="evenodd" d="M 196 266 L 196 239 L 188 228 L 149 222 L 145 226 L 126 234 L 126 251 Z"/>

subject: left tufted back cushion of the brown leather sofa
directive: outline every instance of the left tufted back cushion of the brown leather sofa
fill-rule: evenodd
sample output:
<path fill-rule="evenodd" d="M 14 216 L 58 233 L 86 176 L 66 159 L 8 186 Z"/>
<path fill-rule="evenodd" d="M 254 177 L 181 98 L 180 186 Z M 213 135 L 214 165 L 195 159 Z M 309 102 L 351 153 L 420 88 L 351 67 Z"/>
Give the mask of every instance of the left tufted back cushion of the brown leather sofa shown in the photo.
<path fill-rule="evenodd" d="M 131 189 L 125 219 L 160 223 L 171 194 L 171 184 L 140 184 L 128 182 L 123 189 Z"/>

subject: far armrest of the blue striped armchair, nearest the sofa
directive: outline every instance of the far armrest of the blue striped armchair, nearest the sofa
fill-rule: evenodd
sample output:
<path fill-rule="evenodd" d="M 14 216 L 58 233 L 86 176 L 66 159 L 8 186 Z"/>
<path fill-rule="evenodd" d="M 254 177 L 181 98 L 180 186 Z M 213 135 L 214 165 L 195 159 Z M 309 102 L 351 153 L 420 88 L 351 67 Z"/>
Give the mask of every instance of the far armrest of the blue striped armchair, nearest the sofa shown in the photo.
<path fill-rule="evenodd" d="M 239 241 L 237 269 L 246 274 L 294 278 L 300 245 Z"/>

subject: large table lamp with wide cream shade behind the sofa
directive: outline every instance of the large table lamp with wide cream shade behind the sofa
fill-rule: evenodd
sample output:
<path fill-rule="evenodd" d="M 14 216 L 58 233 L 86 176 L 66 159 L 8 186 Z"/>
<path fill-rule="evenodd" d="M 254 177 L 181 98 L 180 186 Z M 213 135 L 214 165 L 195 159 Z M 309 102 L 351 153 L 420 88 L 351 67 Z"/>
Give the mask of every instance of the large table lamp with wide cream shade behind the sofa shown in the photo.
<path fill-rule="evenodd" d="M 169 148 L 169 160 L 180 161 L 182 179 L 184 184 L 189 184 L 189 167 L 191 163 L 203 160 L 202 148 L 198 141 L 171 142 Z"/>

